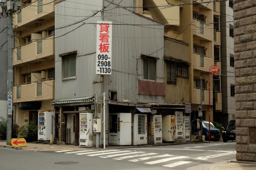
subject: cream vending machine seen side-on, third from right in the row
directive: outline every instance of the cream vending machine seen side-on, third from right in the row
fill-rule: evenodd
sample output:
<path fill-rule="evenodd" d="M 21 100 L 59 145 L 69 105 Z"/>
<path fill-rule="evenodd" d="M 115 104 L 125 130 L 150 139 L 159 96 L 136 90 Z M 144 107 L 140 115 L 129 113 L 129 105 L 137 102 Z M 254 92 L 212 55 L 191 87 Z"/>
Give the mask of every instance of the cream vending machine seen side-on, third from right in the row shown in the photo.
<path fill-rule="evenodd" d="M 163 141 L 175 141 L 175 115 L 163 115 Z"/>

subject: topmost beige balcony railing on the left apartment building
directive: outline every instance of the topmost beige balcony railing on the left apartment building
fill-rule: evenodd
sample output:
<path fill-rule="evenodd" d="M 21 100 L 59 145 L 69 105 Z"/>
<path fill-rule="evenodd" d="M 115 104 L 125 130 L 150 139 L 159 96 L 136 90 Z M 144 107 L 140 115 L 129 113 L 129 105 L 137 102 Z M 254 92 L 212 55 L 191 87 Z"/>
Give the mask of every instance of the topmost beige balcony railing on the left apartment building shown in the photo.
<path fill-rule="evenodd" d="M 54 1 L 52 0 L 38 0 L 24 6 L 21 13 L 18 14 L 15 25 L 24 26 L 29 22 L 39 22 L 40 20 L 47 20 L 54 18 Z M 46 17 L 47 16 L 47 17 Z"/>

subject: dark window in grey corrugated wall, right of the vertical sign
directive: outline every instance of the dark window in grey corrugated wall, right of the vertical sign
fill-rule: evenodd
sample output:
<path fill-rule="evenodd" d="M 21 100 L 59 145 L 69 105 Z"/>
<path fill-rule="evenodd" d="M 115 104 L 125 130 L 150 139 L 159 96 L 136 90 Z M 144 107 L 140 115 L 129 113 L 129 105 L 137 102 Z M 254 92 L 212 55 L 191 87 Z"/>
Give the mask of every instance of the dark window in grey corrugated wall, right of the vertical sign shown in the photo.
<path fill-rule="evenodd" d="M 143 76 L 146 80 L 156 80 L 156 60 L 143 59 Z"/>

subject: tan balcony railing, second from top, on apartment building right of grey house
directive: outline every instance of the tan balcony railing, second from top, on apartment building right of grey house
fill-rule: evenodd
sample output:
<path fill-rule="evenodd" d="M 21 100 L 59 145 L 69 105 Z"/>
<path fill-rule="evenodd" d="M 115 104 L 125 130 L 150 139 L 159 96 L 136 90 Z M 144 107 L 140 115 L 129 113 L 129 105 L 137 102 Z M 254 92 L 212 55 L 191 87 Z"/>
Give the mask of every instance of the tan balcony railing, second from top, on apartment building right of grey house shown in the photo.
<path fill-rule="evenodd" d="M 213 28 L 197 19 L 193 21 L 193 34 L 202 40 L 213 40 Z"/>

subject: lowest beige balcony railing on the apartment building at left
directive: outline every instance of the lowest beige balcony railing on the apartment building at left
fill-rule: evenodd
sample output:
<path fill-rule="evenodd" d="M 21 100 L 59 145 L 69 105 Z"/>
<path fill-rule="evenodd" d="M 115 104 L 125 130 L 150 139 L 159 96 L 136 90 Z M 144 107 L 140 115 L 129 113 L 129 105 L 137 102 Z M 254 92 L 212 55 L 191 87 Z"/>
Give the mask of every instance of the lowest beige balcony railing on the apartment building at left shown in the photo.
<path fill-rule="evenodd" d="M 13 87 L 13 102 L 43 101 L 54 99 L 54 83 L 52 79 L 44 82 L 18 84 Z"/>

